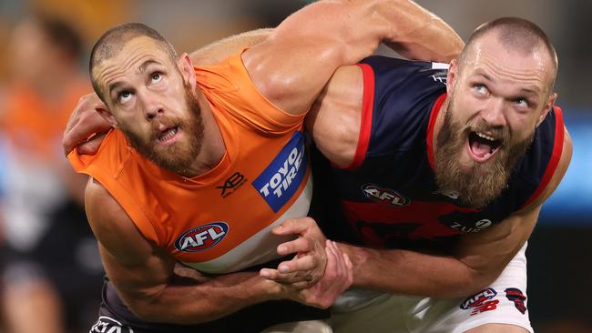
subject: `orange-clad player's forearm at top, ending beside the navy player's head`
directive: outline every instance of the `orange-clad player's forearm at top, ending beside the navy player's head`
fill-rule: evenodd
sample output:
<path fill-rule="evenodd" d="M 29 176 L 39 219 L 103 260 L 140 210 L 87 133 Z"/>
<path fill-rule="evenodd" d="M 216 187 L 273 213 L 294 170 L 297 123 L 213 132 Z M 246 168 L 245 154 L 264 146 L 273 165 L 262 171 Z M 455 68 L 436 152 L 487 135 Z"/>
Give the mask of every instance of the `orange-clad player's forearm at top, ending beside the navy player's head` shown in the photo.
<path fill-rule="evenodd" d="M 464 42 L 454 29 L 413 1 L 385 2 L 381 8 L 393 29 L 383 42 L 398 54 L 448 63 L 462 51 Z"/>

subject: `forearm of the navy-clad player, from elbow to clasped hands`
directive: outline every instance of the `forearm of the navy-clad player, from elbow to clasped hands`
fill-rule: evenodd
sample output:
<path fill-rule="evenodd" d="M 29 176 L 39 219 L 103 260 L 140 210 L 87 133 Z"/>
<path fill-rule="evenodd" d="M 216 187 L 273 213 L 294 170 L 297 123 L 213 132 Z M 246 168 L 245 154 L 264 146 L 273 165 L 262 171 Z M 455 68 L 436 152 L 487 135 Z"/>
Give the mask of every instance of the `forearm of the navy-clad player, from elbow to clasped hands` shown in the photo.
<path fill-rule="evenodd" d="M 353 284 L 393 294 L 455 298 L 471 295 L 495 276 L 467 267 L 455 257 L 399 249 L 340 244 L 353 263 Z"/>

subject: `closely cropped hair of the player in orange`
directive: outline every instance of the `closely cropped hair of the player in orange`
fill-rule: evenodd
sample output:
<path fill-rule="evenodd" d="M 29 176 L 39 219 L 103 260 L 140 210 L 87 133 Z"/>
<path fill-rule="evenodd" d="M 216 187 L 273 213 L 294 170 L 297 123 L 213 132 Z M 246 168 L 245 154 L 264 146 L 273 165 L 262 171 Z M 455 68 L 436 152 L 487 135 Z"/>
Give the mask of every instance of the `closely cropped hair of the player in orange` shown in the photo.
<path fill-rule="evenodd" d="M 177 52 L 170 43 L 158 32 L 148 25 L 142 25 L 141 23 L 127 23 L 124 25 L 117 25 L 105 32 L 98 38 L 97 43 L 93 46 L 90 53 L 90 80 L 93 88 L 97 95 L 105 102 L 104 92 L 101 91 L 100 86 L 97 82 L 97 77 L 94 75 L 94 69 L 105 60 L 117 55 L 119 51 L 123 49 L 123 46 L 128 41 L 139 37 L 147 36 L 155 40 L 157 45 L 161 46 L 162 49 L 170 56 L 172 62 L 177 60 Z"/>

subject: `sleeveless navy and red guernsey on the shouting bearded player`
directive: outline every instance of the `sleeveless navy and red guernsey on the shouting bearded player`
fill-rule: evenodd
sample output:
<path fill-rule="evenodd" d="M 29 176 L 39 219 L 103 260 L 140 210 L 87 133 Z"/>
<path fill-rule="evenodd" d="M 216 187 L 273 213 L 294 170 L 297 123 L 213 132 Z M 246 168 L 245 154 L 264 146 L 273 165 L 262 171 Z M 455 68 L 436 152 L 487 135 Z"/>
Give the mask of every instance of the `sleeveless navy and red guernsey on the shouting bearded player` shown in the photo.
<path fill-rule="evenodd" d="M 556 106 L 536 128 L 500 197 L 484 209 L 463 207 L 434 178 L 432 138 L 445 98 L 446 66 L 383 56 L 369 57 L 359 66 L 364 108 L 354 160 L 346 168 L 330 166 L 332 186 L 319 184 L 338 191 L 342 214 L 357 241 L 414 247 L 479 232 L 531 203 L 555 173 L 564 137 Z M 319 164 L 315 168 L 323 172 Z M 316 179 L 328 179 L 322 176 Z M 331 221 L 323 221 L 322 227 L 329 228 L 329 237 L 343 234 L 331 230 L 336 227 Z"/>

